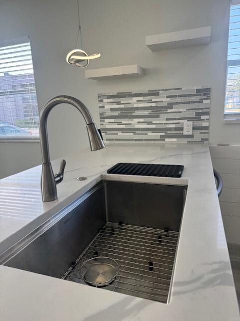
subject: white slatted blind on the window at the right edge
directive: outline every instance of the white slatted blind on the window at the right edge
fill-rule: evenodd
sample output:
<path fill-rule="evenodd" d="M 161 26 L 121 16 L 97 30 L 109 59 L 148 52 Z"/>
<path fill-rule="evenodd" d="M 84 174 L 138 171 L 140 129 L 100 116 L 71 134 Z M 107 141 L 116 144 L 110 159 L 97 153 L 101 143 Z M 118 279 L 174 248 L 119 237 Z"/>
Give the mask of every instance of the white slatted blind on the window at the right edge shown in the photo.
<path fill-rule="evenodd" d="M 225 114 L 240 114 L 240 5 L 230 7 Z"/>

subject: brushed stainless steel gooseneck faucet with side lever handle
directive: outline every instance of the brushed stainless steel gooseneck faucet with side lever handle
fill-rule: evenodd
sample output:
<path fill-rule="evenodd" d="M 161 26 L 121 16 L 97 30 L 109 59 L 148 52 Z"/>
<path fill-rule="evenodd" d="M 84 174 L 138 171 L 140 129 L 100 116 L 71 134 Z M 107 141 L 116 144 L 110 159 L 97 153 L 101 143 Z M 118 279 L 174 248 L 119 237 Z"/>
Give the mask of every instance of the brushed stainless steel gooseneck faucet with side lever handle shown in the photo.
<path fill-rule="evenodd" d="M 78 109 L 82 114 L 86 122 L 91 150 L 97 150 L 105 147 L 89 110 L 80 100 L 65 95 L 56 96 L 48 100 L 43 106 L 39 117 L 39 133 L 42 156 L 41 196 L 43 202 L 50 202 L 57 199 L 56 184 L 60 183 L 63 180 L 63 172 L 66 165 L 66 162 L 63 159 L 60 164 L 59 173 L 55 175 L 53 174 L 47 138 L 47 117 L 49 115 L 49 112 L 53 107 L 62 103 L 67 103 L 76 107 L 76 109 Z"/>

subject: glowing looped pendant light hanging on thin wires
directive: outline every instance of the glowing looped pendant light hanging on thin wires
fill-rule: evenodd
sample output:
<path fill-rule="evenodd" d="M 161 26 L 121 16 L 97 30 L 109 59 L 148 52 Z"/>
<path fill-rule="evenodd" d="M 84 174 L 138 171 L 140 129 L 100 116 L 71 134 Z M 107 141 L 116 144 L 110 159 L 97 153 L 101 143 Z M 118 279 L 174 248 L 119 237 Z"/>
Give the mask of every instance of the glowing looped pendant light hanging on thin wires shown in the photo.
<path fill-rule="evenodd" d="M 75 49 L 71 50 L 66 55 L 66 62 L 70 65 L 75 65 L 77 67 L 86 67 L 89 64 L 89 60 L 99 58 L 101 54 L 98 53 L 98 54 L 93 54 L 88 56 L 84 50 L 76 49 L 79 36 L 80 36 L 81 48 L 82 48 L 82 43 L 84 44 L 84 40 L 81 34 L 81 26 L 80 26 L 79 0 L 76 0 L 76 3 L 77 3 L 77 16 L 78 16 L 78 32 L 76 36 L 76 44 L 75 44 Z"/>

